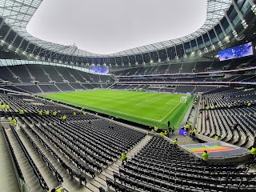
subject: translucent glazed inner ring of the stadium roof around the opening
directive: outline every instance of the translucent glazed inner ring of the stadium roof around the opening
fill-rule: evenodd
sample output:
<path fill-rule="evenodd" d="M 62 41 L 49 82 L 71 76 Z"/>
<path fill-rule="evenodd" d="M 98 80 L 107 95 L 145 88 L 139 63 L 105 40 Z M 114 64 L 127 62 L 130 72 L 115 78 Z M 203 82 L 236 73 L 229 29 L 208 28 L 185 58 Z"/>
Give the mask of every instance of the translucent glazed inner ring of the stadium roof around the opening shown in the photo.
<path fill-rule="evenodd" d="M 102 57 L 102 54 L 90 53 L 86 50 L 79 50 L 74 46 L 63 46 L 60 44 L 46 42 L 39 38 L 34 38 L 26 30 L 30 18 L 41 5 L 43 0 L 1 0 L 0 1 L 0 15 L 5 18 L 5 22 L 12 27 L 22 38 L 34 43 L 36 46 L 43 49 L 57 52 L 59 54 L 69 54 L 78 57 Z M 170 39 L 164 42 L 156 42 L 150 45 L 139 46 L 130 50 L 122 50 L 114 54 L 108 54 L 108 57 L 127 56 L 134 54 L 148 53 L 154 50 L 166 49 L 170 46 L 181 44 L 182 42 L 189 42 L 190 40 L 205 34 L 211 30 L 224 17 L 226 10 L 229 9 L 231 0 L 208 0 L 206 22 L 204 25 L 192 34 L 186 35 L 182 38 Z"/>

